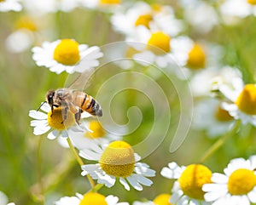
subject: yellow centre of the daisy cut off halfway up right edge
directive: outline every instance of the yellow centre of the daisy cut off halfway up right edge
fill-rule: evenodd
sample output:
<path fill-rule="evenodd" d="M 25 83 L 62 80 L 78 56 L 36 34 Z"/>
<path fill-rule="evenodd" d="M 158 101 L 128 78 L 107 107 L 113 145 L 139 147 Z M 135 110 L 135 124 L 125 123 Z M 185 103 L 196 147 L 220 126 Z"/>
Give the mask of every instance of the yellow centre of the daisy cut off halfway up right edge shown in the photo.
<path fill-rule="evenodd" d="M 239 94 L 236 105 L 241 111 L 248 115 L 256 115 L 256 87 L 253 84 L 247 84 L 241 94 Z"/>

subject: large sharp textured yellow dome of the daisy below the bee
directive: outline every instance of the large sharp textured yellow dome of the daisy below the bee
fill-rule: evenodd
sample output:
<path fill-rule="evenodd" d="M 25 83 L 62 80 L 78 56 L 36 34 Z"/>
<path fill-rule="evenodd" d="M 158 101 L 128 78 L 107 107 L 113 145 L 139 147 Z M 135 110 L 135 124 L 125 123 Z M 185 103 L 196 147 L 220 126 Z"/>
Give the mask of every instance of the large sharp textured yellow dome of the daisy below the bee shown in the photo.
<path fill-rule="evenodd" d="M 115 177 L 127 177 L 134 170 L 134 152 L 128 143 L 114 141 L 103 151 L 99 162 L 102 170 L 107 174 Z"/>

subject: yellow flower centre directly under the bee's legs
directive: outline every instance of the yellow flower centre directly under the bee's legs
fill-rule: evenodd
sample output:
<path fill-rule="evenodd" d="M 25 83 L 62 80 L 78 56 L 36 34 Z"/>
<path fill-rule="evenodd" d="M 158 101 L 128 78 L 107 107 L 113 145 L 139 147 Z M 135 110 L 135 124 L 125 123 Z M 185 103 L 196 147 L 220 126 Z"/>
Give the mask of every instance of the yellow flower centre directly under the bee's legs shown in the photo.
<path fill-rule="evenodd" d="M 67 110 L 67 118 L 63 120 L 64 111 L 62 111 L 61 107 L 57 107 L 53 110 L 48 112 L 47 121 L 51 128 L 55 128 L 57 130 L 64 130 L 66 128 L 71 127 L 75 122 L 75 117 L 73 112 Z"/>

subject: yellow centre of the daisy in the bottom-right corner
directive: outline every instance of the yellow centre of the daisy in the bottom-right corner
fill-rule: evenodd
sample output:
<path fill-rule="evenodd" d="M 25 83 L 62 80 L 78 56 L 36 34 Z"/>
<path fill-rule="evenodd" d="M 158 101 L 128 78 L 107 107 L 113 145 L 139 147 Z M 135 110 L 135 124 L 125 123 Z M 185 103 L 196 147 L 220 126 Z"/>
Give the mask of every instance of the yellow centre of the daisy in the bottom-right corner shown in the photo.
<path fill-rule="evenodd" d="M 253 190 L 256 185 L 256 175 L 246 168 L 237 169 L 230 175 L 228 189 L 232 195 L 244 195 Z"/>

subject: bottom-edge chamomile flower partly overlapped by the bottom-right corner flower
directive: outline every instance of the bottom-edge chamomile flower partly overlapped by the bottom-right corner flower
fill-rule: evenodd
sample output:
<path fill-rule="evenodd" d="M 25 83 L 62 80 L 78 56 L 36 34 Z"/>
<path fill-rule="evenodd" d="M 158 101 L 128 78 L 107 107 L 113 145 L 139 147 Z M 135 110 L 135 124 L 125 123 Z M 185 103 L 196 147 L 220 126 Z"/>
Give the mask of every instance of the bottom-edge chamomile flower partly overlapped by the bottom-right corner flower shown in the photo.
<path fill-rule="evenodd" d="M 172 187 L 172 204 L 207 205 L 204 201 L 205 192 L 202 185 L 211 183 L 212 172 L 201 164 L 190 164 L 179 167 L 176 162 L 170 162 L 168 168 L 162 168 L 162 176 L 177 179 Z"/>

